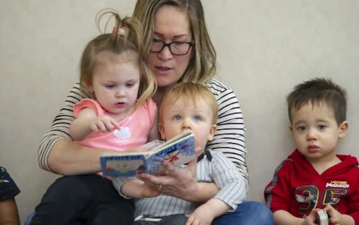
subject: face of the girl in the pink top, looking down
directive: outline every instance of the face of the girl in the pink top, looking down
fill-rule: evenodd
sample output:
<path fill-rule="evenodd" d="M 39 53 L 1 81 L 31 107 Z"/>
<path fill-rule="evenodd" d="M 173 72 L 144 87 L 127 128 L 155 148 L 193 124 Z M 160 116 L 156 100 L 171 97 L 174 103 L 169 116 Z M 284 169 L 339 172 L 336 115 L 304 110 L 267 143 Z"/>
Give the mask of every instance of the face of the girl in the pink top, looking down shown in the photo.
<path fill-rule="evenodd" d="M 137 100 L 139 68 L 130 55 L 100 52 L 92 84 L 88 85 L 102 108 L 113 115 L 129 115 Z"/>

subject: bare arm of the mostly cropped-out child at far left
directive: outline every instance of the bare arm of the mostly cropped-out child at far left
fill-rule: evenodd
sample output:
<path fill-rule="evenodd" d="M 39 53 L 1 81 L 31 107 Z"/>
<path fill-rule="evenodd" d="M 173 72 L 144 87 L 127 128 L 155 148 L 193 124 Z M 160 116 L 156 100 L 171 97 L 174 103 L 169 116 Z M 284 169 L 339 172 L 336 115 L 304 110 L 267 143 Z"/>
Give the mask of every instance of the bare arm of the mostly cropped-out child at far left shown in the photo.
<path fill-rule="evenodd" d="M 0 202 L 0 224 L 19 225 L 19 212 L 14 198 Z"/>

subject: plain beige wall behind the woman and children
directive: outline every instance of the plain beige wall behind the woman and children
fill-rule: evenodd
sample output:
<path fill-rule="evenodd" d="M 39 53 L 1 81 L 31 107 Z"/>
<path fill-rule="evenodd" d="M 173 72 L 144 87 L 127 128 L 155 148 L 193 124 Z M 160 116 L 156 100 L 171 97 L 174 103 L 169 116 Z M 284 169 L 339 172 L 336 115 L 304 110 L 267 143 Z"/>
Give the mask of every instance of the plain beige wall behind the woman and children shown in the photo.
<path fill-rule="evenodd" d="M 355 0 L 202 0 L 219 78 L 237 93 L 246 123 L 249 199 L 262 201 L 273 170 L 294 148 L 285 97 L 311 77 L 347 88 L 349 133 L 338 153 L 359 157 L 359 3 Z M 21 188 L 21 220 L 57 177 L 37 166 L 37 147 L 77 81 L 95 14 L 130 15 L 135 0 L 2 0 L 0 165 Z M 356 118 L 356 120 L 354 119 Z"/>

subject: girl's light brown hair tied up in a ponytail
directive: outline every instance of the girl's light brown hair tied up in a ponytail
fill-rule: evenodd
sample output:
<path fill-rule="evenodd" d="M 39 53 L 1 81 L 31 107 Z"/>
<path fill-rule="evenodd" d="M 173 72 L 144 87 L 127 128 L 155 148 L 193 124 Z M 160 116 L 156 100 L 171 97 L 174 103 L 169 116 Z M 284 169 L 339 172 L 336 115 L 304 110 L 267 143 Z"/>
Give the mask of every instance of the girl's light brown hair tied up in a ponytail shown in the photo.
<path fill-rule="evenodd" d="M 97 14 L 98 28 L 99 21 L 105 14 L 115 17 L 113 33 L 99 35 L 87 44 L 80 62 L 80 88 L 95 99 L 95 95 L 92 95 L 86 86 L 92 84 L 93 73 L 100 61 L 99 53 L 107 51 L 115 55 L 126 54 L 129 59 L 133 59 L 139 68 L 140 77 L 137 104 L 142 104 L 144 100 L 155 94 L 157 88 L 155 77 L 150 68 L 148 68 L 146 61 L 144 61 L 142 27 L 135 18 L 125 17 L 121 19 L 115 10 L 104 9 Z"/>

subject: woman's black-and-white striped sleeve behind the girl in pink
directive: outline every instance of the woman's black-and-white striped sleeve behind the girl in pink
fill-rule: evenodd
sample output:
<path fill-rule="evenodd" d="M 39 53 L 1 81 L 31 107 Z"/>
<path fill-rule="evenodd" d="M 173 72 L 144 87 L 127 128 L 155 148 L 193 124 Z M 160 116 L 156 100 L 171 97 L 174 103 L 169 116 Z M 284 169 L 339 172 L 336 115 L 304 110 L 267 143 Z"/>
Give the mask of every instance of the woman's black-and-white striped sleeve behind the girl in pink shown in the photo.
<path fill-rule="evenodd" d="M 68 130 L 72 120 L 75 119 L 72 113 L 74 104 L 77 104 L 81 99 L 88 97 L 88 95 L 80 90 L 79 84 L 75 84 L 68 93 L 64 106 L 61 107 L 59 114 L 52 121 L 50 129 L 40 142 L 38 162 L 40 168 L 43 170 L 51 172 L 50 167 L 48 166 L 48 155 L 55 142 L 59 139 L 71 139 Z"/>

